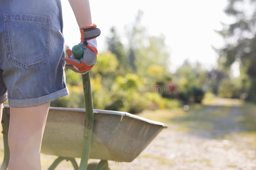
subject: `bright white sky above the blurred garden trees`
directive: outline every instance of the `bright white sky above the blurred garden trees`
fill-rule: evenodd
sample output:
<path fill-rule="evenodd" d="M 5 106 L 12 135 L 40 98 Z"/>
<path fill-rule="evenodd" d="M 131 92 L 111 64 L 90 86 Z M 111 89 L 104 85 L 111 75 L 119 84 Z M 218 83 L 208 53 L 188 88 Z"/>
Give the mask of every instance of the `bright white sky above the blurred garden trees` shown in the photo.
<path fill-rule="evenodd" d="M 63 13 L 63 36 L 72 47 L 80 42 L 79 27 L 68 0 L 61 0 Z M 125 43 L 125 25 L 131 24 L 138 10 L 143 11 L 141 24 L 149 35 L 165 35 L 170 53 L 170 70 L 174 72 L 188 59 L 200 62 L 205 69 L 217 67 L 217 53 L 212 46 L 220 48 L 224 41 L 214 30 L 221 30 L 220 22 L 232 22 L 223 10 L 227 0 L 93 0 L 90 1 L 92 23 L 101 30 L 97 38 L 98 50 L 107 50 L 106 36 L 115 26 Z M 239 66 L 234 64 L 235 76 Z"/>

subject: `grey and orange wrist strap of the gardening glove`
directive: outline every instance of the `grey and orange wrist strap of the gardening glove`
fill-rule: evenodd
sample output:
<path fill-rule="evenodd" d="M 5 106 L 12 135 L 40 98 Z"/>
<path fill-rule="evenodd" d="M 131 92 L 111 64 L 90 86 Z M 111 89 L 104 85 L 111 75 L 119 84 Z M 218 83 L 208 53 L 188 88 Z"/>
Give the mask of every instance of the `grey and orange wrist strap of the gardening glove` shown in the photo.
<path fill-rule="evenodd" d="M 97 25 L 93 24 L 88 27 L 80 28 L 81 42 L 86 42 L 86 40 L 94 39 L 100 35 L 100 29 Z"/>

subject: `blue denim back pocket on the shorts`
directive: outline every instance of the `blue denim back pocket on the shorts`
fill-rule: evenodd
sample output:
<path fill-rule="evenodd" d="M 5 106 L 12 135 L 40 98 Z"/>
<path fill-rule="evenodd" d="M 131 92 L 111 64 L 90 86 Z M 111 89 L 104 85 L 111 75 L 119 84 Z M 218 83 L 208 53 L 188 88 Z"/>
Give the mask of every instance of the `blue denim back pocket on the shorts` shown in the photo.
<path fill-rule="evenodd" d="M 26 69 L 47 61 L 51 18 L 29 14 L 4 14 L 8 59 Z"/>

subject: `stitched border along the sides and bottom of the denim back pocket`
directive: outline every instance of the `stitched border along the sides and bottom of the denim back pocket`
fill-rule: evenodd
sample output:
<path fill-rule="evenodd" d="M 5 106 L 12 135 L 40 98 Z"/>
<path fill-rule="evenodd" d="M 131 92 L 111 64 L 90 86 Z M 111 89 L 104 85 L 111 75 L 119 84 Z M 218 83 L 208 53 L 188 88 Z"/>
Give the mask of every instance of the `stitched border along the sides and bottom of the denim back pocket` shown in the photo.
<path fill-rule="evenodd" d="M 21 14 L 23 15 L 23 14 Z M 28 14 L 26 14 L 28 15 Z M 45 16 L 43 16 L 45 17 Z M 16 63 L 17 65 L 24 67 L 26 69 L 30 69 L 33 67 L 37 67 L 40 65 L 43 65 L 47 62 L 47 55 L 48 55 L 48 46 L 49 46 L 49 37 L 50 37 L 50 25 L 51 25 L 51 17 L 46 17 L 47 21 L 46 22 L 38 22 L 38 21 L 28 21 L 28 20 L 14 20 L 14 19 L 9 19 L 8 14 L 4 14 L 4 34 L 5 34 L 5 42 L 6 42 L 6 47 L 7 47 L 7 53 L 8 53 L 8 59 L 11 60 L 12 62 Z M 20 62 L 18 59 L 12 57 L 12 48 L 10 46 L 10 38 L 9 38 L 9 32 L 8 30 L 8 22 L 5 21 L 19 21 L 19 22 L 33 22 L 33 23 L 38 23 L 38 24 L 44 24 L 46 25 L 46 39 L 45 39 L 45 50 L 44 50 L 44 59 L 35 63 L 31 64 L 25 64 Z"/>

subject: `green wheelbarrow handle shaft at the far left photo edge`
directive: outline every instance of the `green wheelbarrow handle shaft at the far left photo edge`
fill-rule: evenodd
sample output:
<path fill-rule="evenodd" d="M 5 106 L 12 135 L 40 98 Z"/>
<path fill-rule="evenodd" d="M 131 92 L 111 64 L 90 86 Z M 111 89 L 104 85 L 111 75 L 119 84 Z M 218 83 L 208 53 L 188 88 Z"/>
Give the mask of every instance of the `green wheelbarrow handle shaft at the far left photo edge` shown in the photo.
<path fill-rule="evenodd" d="M 1 123 L 3 127 L 2 133 L 3 133 L 3 139 L 4 139 L 4 160 L 0 170 L 7 169 L 9 164 L 9 159 L 10 159 L 10 150 L 9 150 L 9 144 L 8 144 L 9 120 L 10 120 L 10 117 L 6 114 L 5 111 L 3 111 Z"/>

